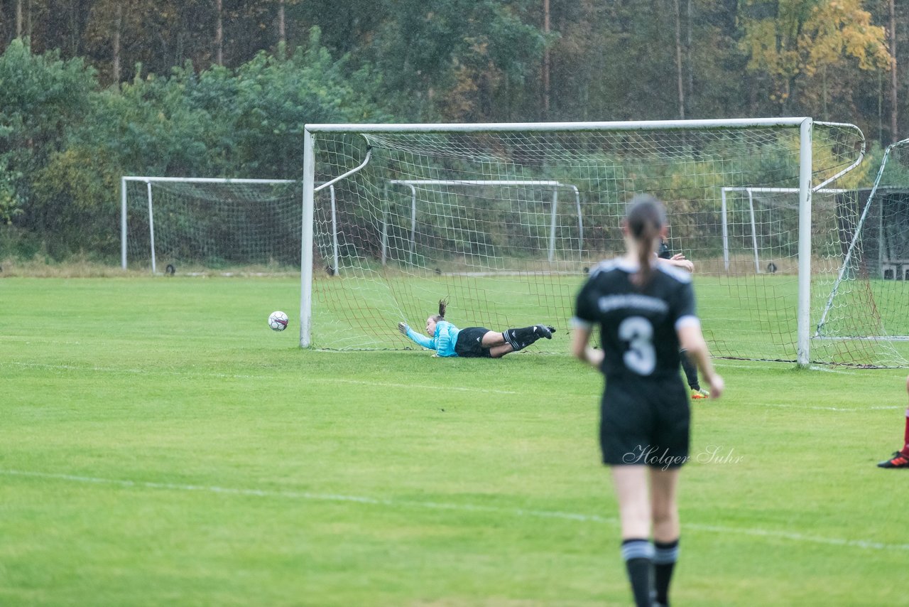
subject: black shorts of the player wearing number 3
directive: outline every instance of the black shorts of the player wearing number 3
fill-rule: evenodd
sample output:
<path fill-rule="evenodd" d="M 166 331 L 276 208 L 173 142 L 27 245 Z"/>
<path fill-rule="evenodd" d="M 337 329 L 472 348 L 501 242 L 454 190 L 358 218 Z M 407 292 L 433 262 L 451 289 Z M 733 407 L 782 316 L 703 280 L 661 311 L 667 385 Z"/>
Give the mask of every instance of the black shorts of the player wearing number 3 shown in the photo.
<path fill-rule="evenodd" d="M 610 466 L 678 468 L 688 460 L 691 408 L 678 376 L 608 379 L 600 404 L 600 448 Z"/>

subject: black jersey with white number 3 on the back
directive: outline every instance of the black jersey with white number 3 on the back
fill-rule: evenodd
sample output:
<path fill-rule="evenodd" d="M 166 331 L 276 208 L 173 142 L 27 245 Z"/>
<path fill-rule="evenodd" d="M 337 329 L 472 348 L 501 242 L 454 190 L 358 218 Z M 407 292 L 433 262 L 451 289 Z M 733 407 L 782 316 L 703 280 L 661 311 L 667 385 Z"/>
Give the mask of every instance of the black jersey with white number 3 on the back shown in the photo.
<path fill-rule="evenodd" d="M 578 293 L 576 325 L 600 326 L 607 378 L 678 376 L 676 328 L 698 322 L 691 275 L 657 263 L 639 290 L 631 281 L 637 267 L 623 258 L 601 262 Z"/>

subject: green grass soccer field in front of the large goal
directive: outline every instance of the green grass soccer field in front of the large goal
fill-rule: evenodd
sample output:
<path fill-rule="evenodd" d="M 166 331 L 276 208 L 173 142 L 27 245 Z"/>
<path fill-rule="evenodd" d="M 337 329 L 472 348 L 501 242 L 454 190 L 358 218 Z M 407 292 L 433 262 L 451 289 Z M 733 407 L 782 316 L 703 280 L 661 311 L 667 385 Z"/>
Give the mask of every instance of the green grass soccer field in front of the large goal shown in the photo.
<path fill-rule="evenodd" d="M 631 603 L 592 369 L 305 351 L 299 297 L 0 281 L 0 604 Z M 909 604 L 905 369 L 716 366 L 673 604 Z"/>

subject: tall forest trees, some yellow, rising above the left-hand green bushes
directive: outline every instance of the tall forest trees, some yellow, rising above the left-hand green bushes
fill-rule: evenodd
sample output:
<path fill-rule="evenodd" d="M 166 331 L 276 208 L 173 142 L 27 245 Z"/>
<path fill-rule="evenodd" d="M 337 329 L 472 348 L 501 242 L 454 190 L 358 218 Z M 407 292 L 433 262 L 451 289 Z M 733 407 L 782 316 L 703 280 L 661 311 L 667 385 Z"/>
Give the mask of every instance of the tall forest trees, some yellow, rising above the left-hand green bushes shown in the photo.
<path fill-rule="evenodd" d="M 897 116 L 905 13 L 894 0 L 0 0 L 0 51 L 23 35 L 110 86 L 292 54 L 317 25 L 407 121 L 800 113 L 869 127 Z"/>

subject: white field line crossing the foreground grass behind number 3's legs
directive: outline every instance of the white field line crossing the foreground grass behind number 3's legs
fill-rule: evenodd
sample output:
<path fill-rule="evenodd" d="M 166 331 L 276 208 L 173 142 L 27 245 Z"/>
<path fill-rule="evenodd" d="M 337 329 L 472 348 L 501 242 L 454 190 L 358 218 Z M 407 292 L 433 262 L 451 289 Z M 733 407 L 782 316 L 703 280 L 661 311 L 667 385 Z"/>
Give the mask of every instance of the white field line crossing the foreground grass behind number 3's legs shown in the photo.
<path fill-rule="evenodd" d="M 199 491 L 221 495 L 235 495 L 241 497 L 279 498 L 285 500 L 303 501 L 338 501 L 360 503 L 372 506 L 386 506 L 390 508 L 425 508 L 430 510 L 488 512 L 502 514 L 506 517 L 532 517 L 541 519 L 559 519 L 564 521 L 593 522 L 608 525 L 618 525 L 618 519 L 604 517 L 597 514 L 582 514 L 564 511 L 525 510 L 523 508 L 502 508 L 497 506 L 481 506 L 477 504 L 460 504 L 442 501 L 415 501 L 415 500 L 388 500 L 371 498 L 358 495 L 343 495 L 336 493 L 312 493 L 309 491 L 272 491 L 265 489 L 243 489 L 232 487 L 218 487 L 209 485 L 187 485 L 174 482 L 151 481 L 126 481 L 120 479 L 102 479 L 90 476 L 76 476 L 73 474 L 55 474 L 50 472 L 35 472 L 27 470 L 2 470 L 0 474 L 36 479 L 50 479 L 55 481 L 81 482 L 96 485 L 114 485 L 126 489 L 154 489 L 165 491 Z M 722 525 L 707 525 L 696 522 L 684 522 L 685 529 L 695 531 L 709 531 L 725 535 L 744 534 L 754 537 L 769 538 L 774 540 L 795 541 L 800 543 L 825 544 L 830 546 L 847 546 L 864 548 L 867 550 L 884 551 L 909 551 L 909 543 L 893 544 L 870 540 L 846 540 L 844 538 L 831 538 L 816 535 L 805 535 L 791 531 L 774 531 L 770 529 L 749 529 L 739 527 L 724 527 Z"/>

